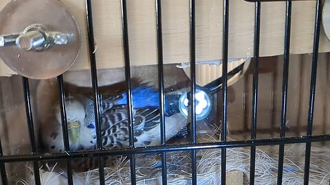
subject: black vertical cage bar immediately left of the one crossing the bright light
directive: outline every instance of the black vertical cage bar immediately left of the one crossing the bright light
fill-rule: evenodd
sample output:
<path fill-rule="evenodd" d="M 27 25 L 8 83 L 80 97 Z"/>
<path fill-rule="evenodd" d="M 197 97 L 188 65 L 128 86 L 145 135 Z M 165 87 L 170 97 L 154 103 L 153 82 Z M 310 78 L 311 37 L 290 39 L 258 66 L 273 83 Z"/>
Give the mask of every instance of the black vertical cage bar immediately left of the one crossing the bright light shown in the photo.
<path fill-rule="evenodd" d="M 157 58 L 158 58 L 158 88 L 160 110 L 160 140 L 161 145 L 166 145 L 165 133 L 165 100 L 164 100 L 164 69 L 163 69 L 163 34 L 162 34 L 162 0 L 156 0 L 156 25 L 157 25 Z M 167 184 L 166 152 L 162 152 L 162 182 Z"/>

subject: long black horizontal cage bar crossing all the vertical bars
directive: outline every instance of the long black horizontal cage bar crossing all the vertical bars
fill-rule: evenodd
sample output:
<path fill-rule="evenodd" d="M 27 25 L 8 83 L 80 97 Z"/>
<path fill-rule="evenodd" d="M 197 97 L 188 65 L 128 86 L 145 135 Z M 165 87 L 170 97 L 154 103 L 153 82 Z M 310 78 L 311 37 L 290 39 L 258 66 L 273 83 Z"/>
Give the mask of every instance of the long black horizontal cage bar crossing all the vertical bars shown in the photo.
<path fill-rule="evenodd" d="M 111 150 L 98 150 L 98 151 L 78 151 L 70 153 L 67 156 L 66 153 L 53 153 L 49 155 L 47 153 L 32 153 L 29 155 L 19 156 L 1 156 L 0 162 L 20 162 L 30 160 L 60 160 L 65 158 L 82 158 L 84 156 L 98 157 L 98 156 L 116 156 L 116 155 L 130 155 L 137 153 L 155 153 L 155 152 L 170 152 L 170 151 L 186 151 L 192 149 L 221 149 L 234 148 L 234 147 L 256 147 L 256 146 L 269 146 L 279 144 L 292 144 L 292 143 L 307 143 L 307 142 L 320 142 L 330 140 L 330 134 L 318 135 L 318 136 L 300 136 L 300 137 L 286 137 L 286 138 L 267 138 L 259 140 L 235 140 L 226 142 L 214 142 L 214 143 L 188 143 L 184 145 L 166 145 L 155 147 L 137 147 L 128 149 L 111 149 Z"/>

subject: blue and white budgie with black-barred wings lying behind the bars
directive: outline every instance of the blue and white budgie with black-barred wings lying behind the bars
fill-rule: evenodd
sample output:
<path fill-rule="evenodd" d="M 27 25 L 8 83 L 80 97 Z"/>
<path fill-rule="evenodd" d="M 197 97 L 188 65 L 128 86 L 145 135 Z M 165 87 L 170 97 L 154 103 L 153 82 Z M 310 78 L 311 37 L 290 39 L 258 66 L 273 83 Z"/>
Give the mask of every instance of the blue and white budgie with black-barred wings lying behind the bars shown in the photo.
<path fill-rule="evenodd" d="M 133 127 L 135 147 L 160 145 L 159 93 L 149 86 L 132 89 Z M 177 108 L 179 95 L 166 95 L 166 140 L 186 128 L 187 119 Z M 62 152 L 63 132 L 60 106 L 55 106 L 56 124 L 42 131 L 44 150 Z M 70 151 L 96 148 L 96 125 L 94 102 L 82 95 L 70 95 L 66 98 L 67 125 Z M 54 121 L 53 121 L 54 122 Z M 105 149 L 129 147 L 129 123 L 127 120 L 126 93 L 101 99 L 100 126 L 102 146 Z"/>

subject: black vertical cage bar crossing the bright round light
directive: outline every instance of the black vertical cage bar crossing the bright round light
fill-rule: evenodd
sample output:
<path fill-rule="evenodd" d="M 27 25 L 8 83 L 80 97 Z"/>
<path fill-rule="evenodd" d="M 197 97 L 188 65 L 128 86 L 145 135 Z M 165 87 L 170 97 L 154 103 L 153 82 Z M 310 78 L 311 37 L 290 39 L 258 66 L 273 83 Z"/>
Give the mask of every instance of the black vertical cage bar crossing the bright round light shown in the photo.
<path fill-rule="evenodd" d="M 196 92 L 196 27 L 195 27 L 195 0 L 190 0 L 190 110 L 191 110 L 191 134 L 192 143 L 196 143 L 196 112 L 195 112 L 195 92 Z M 192 184 L 197 184 L 197 161 L 196 151 L 192 150 L 191 156 Z"/>

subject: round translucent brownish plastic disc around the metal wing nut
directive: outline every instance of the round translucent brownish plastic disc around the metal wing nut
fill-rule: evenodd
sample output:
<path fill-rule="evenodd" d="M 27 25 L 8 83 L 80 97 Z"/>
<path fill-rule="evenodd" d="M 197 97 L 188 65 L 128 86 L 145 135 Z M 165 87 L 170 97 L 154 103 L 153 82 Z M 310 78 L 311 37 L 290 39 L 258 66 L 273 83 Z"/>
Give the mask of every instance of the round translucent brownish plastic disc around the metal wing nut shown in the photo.
<path fill-rule="evenodd" d="M 52 32 L 69 34 L 67 45 L 44 51 L 24 51 L 17 46 L 0 47 L 0 58 L 12 71 L 32 79 L 61 75 L 76 61 L 80 51 L 78 23 L 65 5 L 56 0 L 11 1 L 0 12 L 0 35 L 20 34 L 25 27 L 42 24 Z"/>

